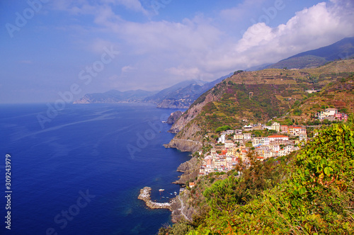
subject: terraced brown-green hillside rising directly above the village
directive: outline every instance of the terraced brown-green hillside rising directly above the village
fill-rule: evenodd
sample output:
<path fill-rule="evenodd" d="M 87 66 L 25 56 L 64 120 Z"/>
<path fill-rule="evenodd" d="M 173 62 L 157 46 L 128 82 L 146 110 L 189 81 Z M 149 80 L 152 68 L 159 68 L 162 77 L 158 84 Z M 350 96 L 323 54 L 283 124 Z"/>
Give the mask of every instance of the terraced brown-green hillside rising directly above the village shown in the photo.
<path fill-rule="evenodd" d="M 305 107 L 304 103 L 319 108 L 326 103 L 353 113 L 353 81 L 350 79 L 353 72 L 354 60 L 351 59 L 316 69 L 264 69 L 236 73 L 200 96 L 180 117 L 171 128 L 178 134 L 169 147 L 188 151 L 190 141 L 201 144 L 205 134 L 214 133 L 222 125 L 236 129 L 275 117 L 285 120 L 285 113 L 302 108 L 298 105 Z M 322 91 L 309 98 L 306 92 L 309 89 Z M 306 122 L 311 113 L 307 110 L 302 113 L 307 117 L 297 119 Z M 292 117 L 291 112 L 289 115 Z"/>

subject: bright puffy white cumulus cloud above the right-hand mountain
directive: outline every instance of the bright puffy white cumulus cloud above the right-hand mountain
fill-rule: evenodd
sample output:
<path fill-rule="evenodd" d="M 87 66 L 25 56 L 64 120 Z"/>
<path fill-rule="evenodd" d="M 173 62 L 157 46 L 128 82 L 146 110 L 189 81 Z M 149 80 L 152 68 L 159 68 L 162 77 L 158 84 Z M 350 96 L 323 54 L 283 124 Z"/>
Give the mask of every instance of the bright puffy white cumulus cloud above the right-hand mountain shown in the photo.
<path fill-rule="evenodd" d="M 338 8 L 338 5 L 335 7 Z M 236 52 L 241 55 L 258 54 L 257 62 L 276 62 L 353 36 L 354 21 L 348 22 L 347 19 L 326 3 L 316 4 L 297 12 L 286 24 L 276 28 L 270 28 L 265 23 L 252 25 L 236 43 Z M 249 57 L 247 60 L 251 59 Z"/>

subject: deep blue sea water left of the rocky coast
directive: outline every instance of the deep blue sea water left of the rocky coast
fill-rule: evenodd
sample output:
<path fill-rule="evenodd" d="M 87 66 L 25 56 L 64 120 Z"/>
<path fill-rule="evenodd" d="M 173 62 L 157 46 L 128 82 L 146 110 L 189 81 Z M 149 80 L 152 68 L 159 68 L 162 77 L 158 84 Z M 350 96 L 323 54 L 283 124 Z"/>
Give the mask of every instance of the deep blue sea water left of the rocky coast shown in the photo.
<path fill-rule="evenodd" d="M 47 105 L 0 105 L 0 234 L 156 234 L 169 210 L 137 199 L 144 186 L 166 202 L 188 153 L 165 149 L 161 122 L 176 110 L 138 103 L 67 105 L 42 129 Z M 11 155 L 11 231 L 5 158 Z M 162 195 L 159 188 L 164 188 Z M 67 214 L 66 214 L 67 213 Z"/>

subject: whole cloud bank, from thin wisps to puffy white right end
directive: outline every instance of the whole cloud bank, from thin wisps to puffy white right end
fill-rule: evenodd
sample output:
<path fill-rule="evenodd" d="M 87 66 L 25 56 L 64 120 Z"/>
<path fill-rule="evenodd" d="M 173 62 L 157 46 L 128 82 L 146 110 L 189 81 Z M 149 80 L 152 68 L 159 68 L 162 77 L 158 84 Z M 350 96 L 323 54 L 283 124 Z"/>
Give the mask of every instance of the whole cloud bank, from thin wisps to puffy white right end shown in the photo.
<path fill-rule="evenodd" d="M 252 2 L 258 1 L 263 0 Z M 181 22 L 131 22 L 116 15 L 110 5 L 120 4 L 144 13 L 139 1 L 105 0 L 105 5 L 95 7 L 94 11 L 93 6 L 83 4 L 79 10 L 76 6 L 70 8 L 76 13 L 93 15 L 98 35 L 103 33 L 110 38 L 96 38 L 91 42 L 92 50 L 101 50 L 103 45 L 116 40 L 122 45 L 118 66 L 135 64 L 122 67 L 120 79 L 129 79 L 123 83 L 115 81 L 115 86 L 139 84 L 139 88 L 144 88 L 154 83 L 168 86 L 171 81 L 185 79 L 211 81 L 236 69 L 278 62 L 354 35 L 354 7 L 348 0 L 331 0 L 329 4 L 304 8 L 287 23 L 273 28 L 256 23 L 241 39 L 234 38 L 231 30 L 224 30 L 227 25 L 217 25 L 215 19 L 203 15 Z M 245 1 L 239 8 L 222 11 L 219 16 L 227 17 L 250 6 Z"/>

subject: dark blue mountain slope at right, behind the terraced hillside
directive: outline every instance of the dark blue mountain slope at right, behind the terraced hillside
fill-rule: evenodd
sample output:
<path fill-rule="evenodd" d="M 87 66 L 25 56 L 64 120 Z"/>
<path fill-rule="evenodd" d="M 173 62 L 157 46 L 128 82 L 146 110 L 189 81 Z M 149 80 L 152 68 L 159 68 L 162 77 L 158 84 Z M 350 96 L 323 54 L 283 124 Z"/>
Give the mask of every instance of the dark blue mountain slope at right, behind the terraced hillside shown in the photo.
<path fill-rule="evenodd" d="M 333 60 L 350 59 L 354 57 L 354 38 L 344 38 L 332 45 L 316 50 L 302 52 L 280 62 L 270 64 L 264 69 L 308 69 L 322 66 Z"/>

